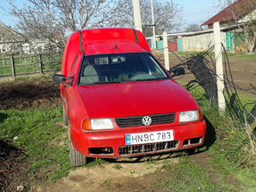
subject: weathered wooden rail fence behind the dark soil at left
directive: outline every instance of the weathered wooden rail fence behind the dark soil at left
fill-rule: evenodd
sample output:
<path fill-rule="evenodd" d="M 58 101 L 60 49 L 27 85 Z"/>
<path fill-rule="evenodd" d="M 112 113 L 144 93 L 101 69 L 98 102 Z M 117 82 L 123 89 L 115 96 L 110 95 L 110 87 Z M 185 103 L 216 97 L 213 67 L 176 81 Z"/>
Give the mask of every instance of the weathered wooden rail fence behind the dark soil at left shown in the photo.
<path fill-rule="evenodd" d="M 37 54 L 21 57 L 0 58 L 0 77 L 18 74 L 43 74 L 60 70 L 61 54 Z"/>

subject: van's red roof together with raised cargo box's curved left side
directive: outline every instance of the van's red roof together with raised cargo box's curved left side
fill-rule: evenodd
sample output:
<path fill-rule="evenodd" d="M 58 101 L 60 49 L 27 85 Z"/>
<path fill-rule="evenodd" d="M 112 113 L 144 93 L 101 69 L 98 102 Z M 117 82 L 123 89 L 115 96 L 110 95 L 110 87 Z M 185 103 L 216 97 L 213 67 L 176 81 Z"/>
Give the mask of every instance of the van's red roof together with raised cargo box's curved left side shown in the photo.
<path fill-rule="evenodd" d="M 66 41 L 62 58 L 62 74 L 70 71 L 71 64 L 78 54 L 115 54 L 150 51 L 146 38 L 139 30 L 130 28 L 104 28 L 81 30 L 70 35 Z M 81 50 L 82 46 L 82 50 Z"/>

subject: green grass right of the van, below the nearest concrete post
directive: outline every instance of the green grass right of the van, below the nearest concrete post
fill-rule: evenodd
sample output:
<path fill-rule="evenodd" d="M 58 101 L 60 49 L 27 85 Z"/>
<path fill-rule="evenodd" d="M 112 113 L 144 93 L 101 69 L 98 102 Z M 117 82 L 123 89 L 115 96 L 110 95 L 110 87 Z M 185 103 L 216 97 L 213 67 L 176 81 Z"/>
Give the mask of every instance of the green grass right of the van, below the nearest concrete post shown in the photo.
<path fill-rule="evenodd" d="M 166 176 L 155 185 L 163 191 L 255 191 L 256 155 L 251 152 L 255 141 L 244 127 L 235 127 L 228 114 L 220 114 L 205 99 L 198 103 L 207 119 L 205 146 L 198 151 L 207 153 L 209 160 L 204 166 L 186 155 L 178 164 L 166 160 L 159 169 Z"/>

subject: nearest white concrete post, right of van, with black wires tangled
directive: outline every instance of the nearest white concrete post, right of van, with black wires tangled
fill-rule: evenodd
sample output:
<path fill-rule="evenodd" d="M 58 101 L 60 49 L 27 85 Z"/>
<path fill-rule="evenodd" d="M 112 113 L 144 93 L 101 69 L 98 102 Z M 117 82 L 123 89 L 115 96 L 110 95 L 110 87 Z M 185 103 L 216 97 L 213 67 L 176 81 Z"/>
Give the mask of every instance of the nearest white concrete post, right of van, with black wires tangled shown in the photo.
<path fill-rule="evenodd" d="M 218 109 L 224 111 L 226 108 L 224 98 L 224 78 L 222 66 L 222 39 L 219 22 L 214 22 L 214 50 L 216 60 L 216 75 L 217 75 L 217 89 L 218 89 Z"/>

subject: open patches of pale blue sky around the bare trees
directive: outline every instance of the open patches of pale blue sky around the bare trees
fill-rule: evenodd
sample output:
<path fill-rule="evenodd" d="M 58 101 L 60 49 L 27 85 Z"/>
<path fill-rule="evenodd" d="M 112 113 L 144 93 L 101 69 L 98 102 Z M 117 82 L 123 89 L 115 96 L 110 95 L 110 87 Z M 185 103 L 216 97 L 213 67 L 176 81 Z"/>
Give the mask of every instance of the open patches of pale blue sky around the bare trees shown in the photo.
<path fill-rule="evenodd" d="M 148 1 L 150 2 L 150 0 Z M 17 6 L 22 6 L 26 0 L 16 0 L 15 2 Z M 183 9 L 184 22 L 180 27 L 180 31 L 185 30 L 186 26 L 190 24 L 198 24 L 200 26 L 203 22 L 214 16 L 214 14 L 217 14 L 218 11 L 216 8 L 218 0 L 173 0 L 173 2 Z M 7 0 L 0 0 L 0 21 L 15 30 L 15 22 L 17 20 L 11 18 L 6 11 L 2 10 L 1 6 L 9 10 Z"/>

